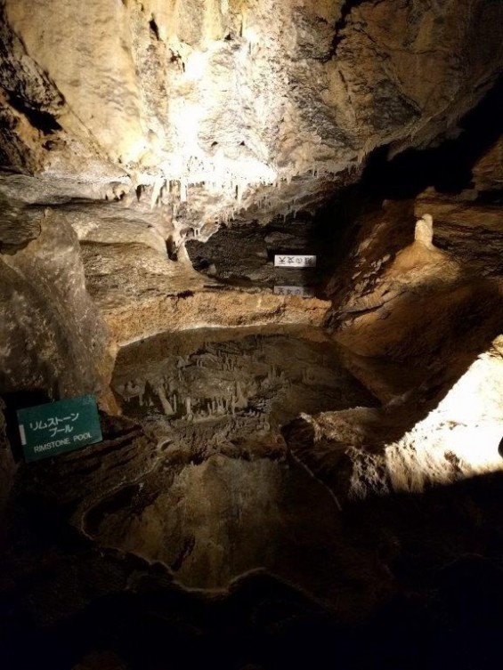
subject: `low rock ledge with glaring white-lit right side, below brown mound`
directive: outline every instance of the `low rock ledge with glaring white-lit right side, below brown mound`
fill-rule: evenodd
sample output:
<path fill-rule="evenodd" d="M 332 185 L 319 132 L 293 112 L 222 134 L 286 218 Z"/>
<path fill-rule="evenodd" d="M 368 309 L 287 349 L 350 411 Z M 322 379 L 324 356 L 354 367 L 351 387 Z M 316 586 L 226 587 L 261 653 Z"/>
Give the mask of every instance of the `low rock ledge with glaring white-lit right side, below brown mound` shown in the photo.
<path fill-rule="evenodd" d="M 437 376 L 443 392 L 433 396 L 426 380 L 384 408 L 303 416 L 288 428 L 288 447 L 340 501 L 503 470 L 501 344 L 499 337 L 451 386 Z"/>

